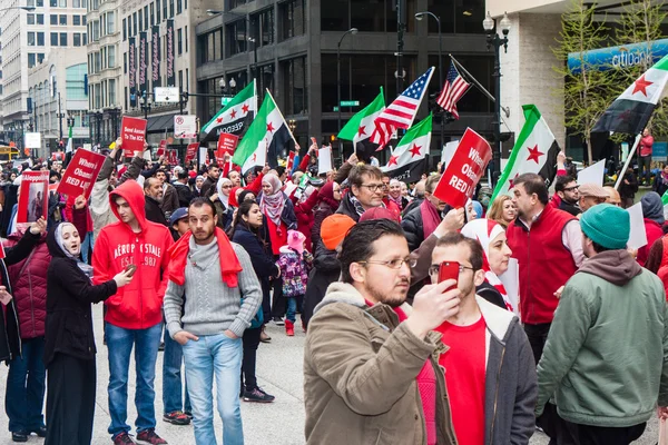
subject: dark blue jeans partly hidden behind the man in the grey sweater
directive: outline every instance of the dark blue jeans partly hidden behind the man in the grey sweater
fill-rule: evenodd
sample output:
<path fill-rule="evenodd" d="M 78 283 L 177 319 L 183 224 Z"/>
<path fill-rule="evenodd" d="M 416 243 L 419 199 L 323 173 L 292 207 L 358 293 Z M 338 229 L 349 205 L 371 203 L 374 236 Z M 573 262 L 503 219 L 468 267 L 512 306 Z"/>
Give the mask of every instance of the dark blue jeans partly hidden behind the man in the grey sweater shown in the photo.
<path fill-rule="evenodd" d="M 163 408 L 165 414 L 175 411 L 193 412 L 190 397 L 188 397 L 188 385 L 186 385 L 186 402 L 184 404 L 184 385 L 181 384 L 181 364 L 184 352 L 181 345 L 173 340 L 169 332 L 165 328 L 165 352 L 163 353 Z"/>

